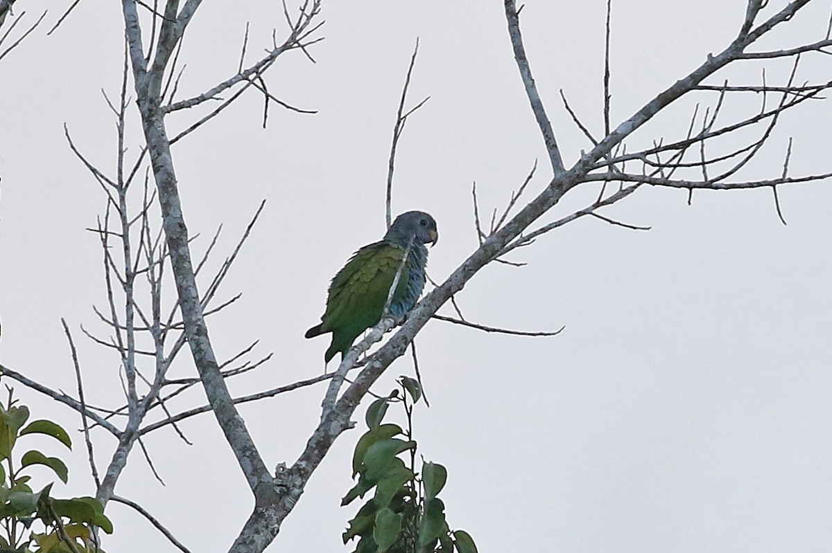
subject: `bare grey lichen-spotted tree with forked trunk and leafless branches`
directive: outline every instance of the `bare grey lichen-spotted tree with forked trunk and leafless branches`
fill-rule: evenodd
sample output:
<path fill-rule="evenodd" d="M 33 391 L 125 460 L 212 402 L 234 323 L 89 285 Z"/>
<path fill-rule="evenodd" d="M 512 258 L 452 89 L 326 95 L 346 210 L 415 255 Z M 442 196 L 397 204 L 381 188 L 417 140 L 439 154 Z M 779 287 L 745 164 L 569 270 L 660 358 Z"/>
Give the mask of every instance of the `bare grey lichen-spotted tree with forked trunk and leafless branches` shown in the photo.
<path fill-rule="evenodd" d="M 0 2 L 2 1 L 0 0 Z M 235 260 L 240 247 L 245 242 L 246 237 L 249 236 L 250 229 L 259 217 L 263 205 L 260 204 L 260 208 L 249 227 L 246 228 L 245 234 L 238 242 L 234 252 L 220 266 L 209 285 L 202 287 L 203 294 L 200 295 L 196 286 L 197 276 L 203 267 L 208 267 L 206 265 L 207 256 L 214 248 L 216 236 L 207 248 L 205 257 L 195 264 L 196 259 L 191 252 L 192 238 L 189 237 L 186 227 L 184 208 L 179 195 L 171 155 L 171 144 L 219 115 L 250 86 L 254 86 L 264 95 L 264 123 L 268 117 L 270 101 L 297 110 L 279 100 L 276 95 L 270 92 L 270 89 L 274 90 L 274 86 L 267 85 L 263 75 L 270 67 L 275 66 L 276 58 L 287 51 L 300 50 L 310 60 L 312 59 L 308 46 L 321 40 L 313 36 L 320 25 L 318 19 L 320 1 L 305 0 L 296 16 L 290 16 L 284 2 L 284 15 L 290 27 L 288 37 L 279 44 L 275 36 L 273 47 L 266 51 L 265 56 L 261 56 L 259 60 L 244 68 L 249 36 L 249 28 L 246 26 L 245 38 L 240 52 L 240 62 L 235 68 L 236 74 L 220 81 L 200 94 L 191 95 L 185 100 L 173 101 L 179 90 L 179 81 L 182 74 L 181 70 L 176 71 L 179 52 L 182 48 L 182 39 L 185 36 L 186 28 L 193 20 L 197 8 L 201 5 L 200 0 L 185 0 L 181 7 L 177 0 L 164 2 L 162 13 L 158 12 L 161 7 L 156 0 L 152 7 L 138 0 L 122 0 L 126 30 L 126 57 L 130 61 L 145 144 L 143 144 L 135 164 L 125 164 L 123 123 L 126 105 L 128 105 L 124 90 L 126 88 L 125 84 L 122 84 L 121 103 L 113 105 L 107 99 L 119 120 L 120 154 L 115 178 L 108 178 L 82 156 L 75 145 L 72 144 L 72 141 L 69 140 L 67 132 L 67 140 L 69 140 L 72 151 L 82 160 L 82 163 L 90 170 L 107 194 L 106 215 L 99 223 L 96 232 L 102 242 L 102 249 L 104 249 L 103 263 L 110 315 L 103 315 L 98 310 L 96 312 L 111 329 L 112 335 L 108 337 L 111 340 L 110 342 L 101 338 L 96 340 L 118 352 L 124 371 L 127 396 L 124 407 L 111 413 L 111 416 L 115 414 L 120 416 L 115 420 L 124 423 L 123 430 L 117 429 L 109 420 L 96 416 L 96 409 L 88 406 L 84 399 L 80 403 L 74 399 L 62 399 L 72 409 L 79 410 L 96 423 L 102 426 L 109 425 L 108 430 L 119 438 L 111 462 L 102 479 L 102 485 L 99 487 L 98 495 L 105 501 L 106 499 L 116 498 L 114 495 L 115 482 L 126 465 L 126 458 L 131 453 L 132 446 L 143 434 L 168 425 L 176 429 L 176 424 L 181 420 L 211 411 L 225 434 L 226 441 L 246 478 L 255 503 L 254 510 L 245 522 L 245 526 L 241 529 L 230 551 L 233 553 L 260 553 L 264 551 L 265 547 L 269 546 L 280 531 L 285 516 L 288 516 L 295 507 L 310 476 L 329 452 L 334 440 L 344 430 L 352 428 L 354 425 L 352 418 L 355 409 L 357 409 L 361 400 L 370 394 L 371 386 L 390 363 L 405 355 L 408 347 L 413 348 L 414 364 L 416 364 L 414 366 L 418 375 L 418 358 L 415 355 L 414 338 L 431 318 L 438 318 L 442 321 L 466 325 L 487 332 L 502 332 L 513 335 L 556 335 L 562 330 L 526 332 L 478 325 L 466 321 L 455 303 L 455 295 L 488 263 L 506 262 L 501 259 L 506 253 L 517 247 L 527 246 L 543 233 L 550 232 L 554 228 L 559 228 L 563 224 L 585 215 L 622 228 L 646 230 L 649 227 L 622 223 L 615 218 L 607 217 L 606 212 L 605 214 L 598 213 L 602 208 L 629 197 L 631 193 L 644 184 L 686 188 L 689 191 L 694 188 L 733 189 L 770 186 L 775 194 L 775 208 L 780 218 L 782 218 L 780 201 L 777 196 L 777 185 L 825 179 L 832 176 L 832 174 L 790 177 L 791 144 L 785 155 L 783 173 L 779 178 L 755 181 L 742 180 L 738 172 L 751 159 L 760 154 L 761 149 L 770 139 L 779 118 L 787 110 L 800 105 L 805 100 L 819 98 L 822 92 L 832 87 L 832 81 L 820 85 L 795 85 L 799 55 L 810 51 L 827 53 L 825 48 L 832 44 L 830 44 L 830 39 L 827 37 L 825 41 L 799 45 L 784 51 L 748 52 L 746 50 L 760 37 L 764 37 L 766 33 L 778 27 L 780 23 L 788 22 L 808 1 L 795 0 L 780 8 L 779 11 L 774 9 L 766 11 L 765 13 L 772 13 L 773 15 L 763 22 L 758 22 L 760 14 L 763 13 L 762 9 L 765 2 L 763 0 L 748 0 L 745 17 L 740 22 L 737 36 L 728 46 L 716 55 L 708 56 L 701 66 L 667 87 L 666 90 L 661 91 L 647 101 L 641 109 L 632 114 L 629 119 L 618 122 L 615 127 L 612 125 L 612 93 L 610 91 L 610 81 L 612 79 L 610 71 L 612 2 L 608 1 L 604 46 L 604 97 L 602 100 L 604 136 L 598 137 L 598 139 L 594 138 L 587 127 L 582 125 L 575 112 L 568 105 L 566 96 L 562 94 L 564 106 L 572 117 L 572 121 L 592 143 L 592 149 L 588 152 L 582 152 L 577 163 L 567 168 L 564 166 L 562 152 L 558 147 L 552 125 L 544 110 L 541 93 L 537 90 L 537 85 L 532 78 L 532 71 L 519 26 L 519 13 L 522 7 L 518 9 L 514 0 L 504 0 L 508 36 L 511 40 L 514 58 L 521 75 L 527 100 L 542 135 L 542 142 L 547 149 L 547 155 L 552 166 L 553 176 L 548 185 L 540 193 L 537 193 L 537 196 L 531 198 L 526 205 L 519 207 L 522 205 L 519 199 L 527 190 L 527 184 L 535 174 L 537 167 L 535 164 L 535 168 L 528 174 L 518 191 L 511 193 L 506 208 L 503 211 L 493 209 L 488 234 L 483 231 L 477 190 L 474 185 L 472 195 L 474 226 L 478 235 L 477 247 L 445 281 L 440 283 L 433 291 L 430 291 L 414 310 L 409 312 L 404 322 L 383 317 L 378 325 L 369 330 L 364 340 L 360 340 L 359 344 L 348 350 L 339 367 L 333 373 L 267 390 L 260 394 L 235 398 L 231 396 L 225 379 L 260 366 L 265 360 L 269 359 L 269 356 L 256 361 L 243 360 L 243 356 L 247 357 L 253 348 L 253 345 L 250 345 L 242 350 L 240 354 L 220 364 L 209 338 L 206 316 L 230 305 L 235 300 L 235 298 L 232 298 L 230 301 L 226 301 L 225 304 L 209 310 L 210 301 L 214 300 L 216 291 L 229 271 L 231 262 Z M 150 37 L 144 37 L 144 40 L 141 34 L 142 28 L 137 13 L 137 4 L 146 7 L 150 11 L 149 14 L 142 12 L 142 17 L 151 21 Z M 413 114 L 414 110 L 417 110 L 425 101 L 418 103 L 411 110 L 405 108 L 406 95 L 417 51 L 418 42 L 411 57 L 404 90 L 399 102 L 397 123 L 394 127 L 394 138 L 389 157 L 386 202 L 388 225 L 392 219 L 390 204 L 392 203 L 392 178 L 398 140 L 402 130 L 404 130 L 407 117 Z M 722 86 L 707 84 L 707 80 L 714 76 L 716 71 L 720 71 L 735 61 L 775 59 L 785 56 L 792 56 L 795 59 L 792 74 L 785 84 L 770 86 L 765 82 L 765 78 L 761 86 L 728 86 L 727 81 Z M 182 69 L 184 69 L 184 66 Z M 232 69 L 232 71 L 234 70 Z M 127 76 L 124 78 L 124 83 L 126 81 Z M 230 98 L 221 100 L 220 95 L 224 94 L 225 91 L 230 91 Z M 690 124 L 685 125 L 687 128 L 685 139 L 666 140 L 656 137 L 656 139 L 648 139 L 646 142 L 646 144 L 652 143 L 651 148 L 636 149 L 635 151 L 632 151 L 631 148 L 628 152 L 626 140 L 631 139 L 636 130 L 641 129 L 652 117 L 668 105 L 694 91 L 697 95 L 706 96 L 709 100 L 713 100 L 716 105 L 711 104 L 711 107 L 703 109 L 702 112 L 698 109 L 694 110 Z M 714 91 L 718 93 L 716 98 L 711 96 L 711 92 Z M 721 115 L 720 126 L 717 126 L 717 115 L 721 113 L 721 105 L 726 95 L 741 94 L 747 91 L 754 91 L 762 95 L 761 99 L 763 101 L 760 111 L 739 121 L 725 122 L 725 115 Z M 772 101 L 772 99 L 775 100 Z M 201 113 L 201 118 L 196 119 L 195 117 L 196 121 L 192 121 L 186 130 L 177 135 L 169 134 L 166 126 L 167 114 L 176 110 L 185 110 L 206 104 L 209 100 L 220 100 L 220 103 L 215 105 L 215 109 L 207 114 Z M 767 106 L 767 104 L 776 105 Z M 206 111 L 208 110 L 206 109 Z M 760 124 L 760 126 L 753 126 L 757 124 Z M 740 146 L 731 145 L 730 147 L 717 149 L 722 144 L 721 137 L 730 135 L 735 130 L 749 128 L 760 129 L 760 132 L 755 131 L 755 136 Z M 684 131 L 685 128 L 682 128 L 681 133 L 684 133 Z M 170 138 L 171 135 L 173 135 L 172 139 Z M 156 196 L 152 197 L 145 190 L 142 208 L 139 213 L 133 215 L 128 213 L 127 193 L 133 177 L 138 174 L 139 167 L 147 166 L 145 160 L 150 162 L 152 176 L 156 184 Z M 127 175 L 125 174 L 126 167 L 128 169 L 131 167 L 131 171 Z M 569 190 L 582 184 L 599 181 L 602 185 L 598 187 L 600 193 L 598 193 L 595 203 L 553 223 L 545 223 L 545 219 L 551 217 L 548 215 L 550 210 L 557 206 Z M 615 183 L 617 183 L 617 186 L 614 186 Z M 590 189 L 592 191 L 596 190 L 595 185 L 592 185 Z M 595 193 L 593 192 L 592 197 L 594 196 Z M 151 226 L 156 228 L 155 224 L 151 225 L 151 214 L 149 214 L 150 203 L 154 201 L 161 208 L 163 242 L 161 242 L 161 233 L 151 232 Z M 523 201 L 527 200 L 524 198 Z M 488 213 L 486 212 L 486 214 Z M 112 219 L 110 219 L 111 215 Z M 154 211 L 152 214 L 153 220 L 156 221 L 157 217 Z M 111 226 L 121 228 L 111 229 Z M 131 233 L 131 229 L 134 232 Z M 120 246 L 121 256 L 110 251 L 114 245 Z M 173 273 L 173 281 L 176 285 L 175 306 L 171 306 L 170 301 L 164 304 L 161 301 L 162 275 L 166 270 L 171 270 Z M 141 279 L 136 281 L 136 276 L 139 275 L 142 275 Z M 201 276 L 200 281 L 202 281 Z M 146 304 L 140 306 L 136 301 L 136 289 L 140 285 L 142 290 L 150 290 L 150 306 Z M 457 309 L 458 319 L 437 315 L 438 309 L 447 301 L 451 301 L 453 307 Z M 102 311 L 106 313 L 107 310 Z M 177 311 L 181 313 L 181 321 Z M 367 355 L 364 360 L 359 362 L 360 355 L 365 355 L 370 347 L 383 340 L 384 334 L 394 329 L 399 323 L 401 323 L 400 327 L 387 337 L 388 340 L 374 350 L 372 355 Z M 174 333 L 171 334 L 171 331 Z M 137 332 L 145 333 L 141 335 L 142 339 L 149 336 L 149 340 L 152 340 L 152 346 L 146 347 L 142 343 L 140 349 L 138 347 L 139 342 L 136 341 Z M 172 345 L 171 341 L 173 341 Z M 194 378 L 168 379 L 166 376 L 166 372 L 177 352 L 185 345 L 190 349 L 191 356 L 196 364 L 196 370 L 199 374 L 198 381 Z M 141 358 L 141 367 L 137 365 L 140 360 L 139 356 L 143 354 L 154 360 L 152 365 L 144 357 Z M 152 366 L 152 372 L 147 369 L 149 366 Z M 357 371 L 357 375 L 351 381 L 347 379 L 348 375 L 352 376 L 350 371 Z M 2 369 L 2 372 L 16 378 L 12 372 L 8 372 L 6 369 Z M 80 373 L 80 369 L 78 369 L 78 372 Z M 78 380 L 80 386 L 80 377 Z M 311 434 L 303 452 L 295 462 L 288 467 L 285 464 L 279 465 L 273 473 L 266 466 L 265 460 L 260 455 L 235 405 L 272 397 L 324 380 L 329 380 L 329 386 L 324 397 L 317 428 L 314 429 L 314 433 Z M 195 409 L 186 409 L 179 413 L 172 411 L 171 405 L 173 402 L 169 400 L 176 397 L 177 394 L 182 394 L 184 390 L 191 389 L 191 386 L 197 382 L 201 383 L 205 389 L 207 404 Z M 151 410 L 155 415 L 164 418 L 148 423 L 146 414 L 150 413 Z M 143 448 L 141 441 L 139 441 L 139 444 Z M 148 462 L 150 462 L 149 458 Z M 144 515 L 144 513 L 142 514 Z M 148 520 L 151 520 L 152 523 L 153 519 L 148 517 Z M 159 527 L 161 525 L 154 524 L 154 526 Z M 172 539 L 172 535 L 169 536 L 169 539 L 175 545 L 178 543 Z M 177 547 L 180 547 L 181 551 L 186 551 L 181 545 L 177 545 Z"/>

